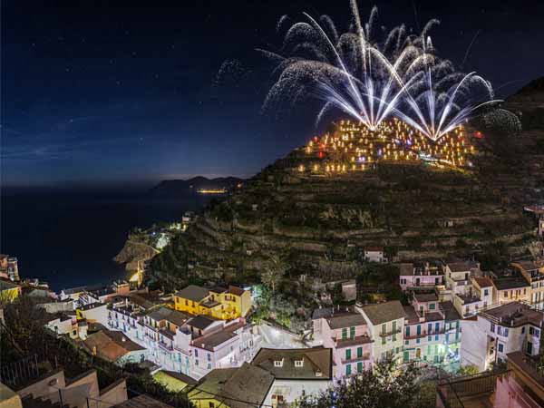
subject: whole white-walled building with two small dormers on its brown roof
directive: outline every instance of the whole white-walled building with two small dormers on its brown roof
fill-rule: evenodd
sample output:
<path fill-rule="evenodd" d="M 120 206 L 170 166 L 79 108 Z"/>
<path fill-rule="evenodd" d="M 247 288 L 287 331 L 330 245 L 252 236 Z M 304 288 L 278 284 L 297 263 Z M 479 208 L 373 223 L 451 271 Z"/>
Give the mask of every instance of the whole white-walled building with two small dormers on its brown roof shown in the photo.
<path fill-rule="evenodd" d="M 274 377 L 263 403 L 266 406 L 290 405 L 304 395 L 326 392 L 334 383 L 330 348 L 261 348 L 251 365 Z"/>

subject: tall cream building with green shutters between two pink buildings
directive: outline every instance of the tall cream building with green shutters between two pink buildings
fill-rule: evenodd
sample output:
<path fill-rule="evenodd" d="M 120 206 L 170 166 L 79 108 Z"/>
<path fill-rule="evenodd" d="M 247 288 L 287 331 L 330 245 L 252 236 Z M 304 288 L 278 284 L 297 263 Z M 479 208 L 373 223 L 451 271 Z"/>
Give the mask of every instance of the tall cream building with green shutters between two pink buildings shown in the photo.
<path fill-rule="evenodd" d="M 368 332 L 374 340 L 373 359 L 401 358 L 403 351 L 404 312 L 398 300 L 358 307 L 363 314 Z"/>

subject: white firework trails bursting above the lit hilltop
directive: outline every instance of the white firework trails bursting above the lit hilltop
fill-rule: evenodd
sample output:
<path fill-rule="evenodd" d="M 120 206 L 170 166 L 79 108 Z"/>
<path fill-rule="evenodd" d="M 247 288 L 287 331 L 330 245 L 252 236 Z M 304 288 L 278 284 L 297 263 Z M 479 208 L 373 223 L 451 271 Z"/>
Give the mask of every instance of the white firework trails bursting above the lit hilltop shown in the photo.
<path fill-rule="evenodd" d="M 277 27 L 287 30 L 281 47 L 257 50 L 277 75 L 264 111 L 316 98 L 323 102 L 316 123 L 337 109 L 374 131 L 396 116 L 436 141 L 481 106 L 496 102 L 481 76 L 458 73 L 435 55 L 429 32 L 438 20 L 430 20 L 420 34 L 409 34 L 403 24 L 380 31 L 375 6 L 366 22 L 355 0 L 350 6 L 352 23 L 343 33 L 328 15 L 316 19 L 305 13 L 305 21 L 285 29 L 287 16 L 280 18 Z"/>

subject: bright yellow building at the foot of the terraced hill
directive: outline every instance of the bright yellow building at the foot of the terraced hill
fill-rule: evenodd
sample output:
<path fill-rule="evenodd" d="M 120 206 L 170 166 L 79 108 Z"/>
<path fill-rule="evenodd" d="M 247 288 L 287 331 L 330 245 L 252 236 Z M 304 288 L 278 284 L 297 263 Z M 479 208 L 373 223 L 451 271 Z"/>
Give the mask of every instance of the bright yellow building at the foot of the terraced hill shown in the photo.
<path fill-rule="evenodd" d="M 180 312 L 212 316 L 221 320 L 247 316 L 251 295 L 239 287 L 198 287 L 189 285 L 174 295 L 174 306 Z"/>

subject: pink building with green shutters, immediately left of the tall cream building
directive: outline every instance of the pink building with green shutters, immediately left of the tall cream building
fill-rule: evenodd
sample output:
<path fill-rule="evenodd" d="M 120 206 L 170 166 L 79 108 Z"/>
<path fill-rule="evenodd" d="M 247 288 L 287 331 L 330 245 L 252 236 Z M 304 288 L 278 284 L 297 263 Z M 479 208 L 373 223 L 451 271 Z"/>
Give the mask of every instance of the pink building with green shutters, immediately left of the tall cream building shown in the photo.
<path fill-rule="evenodd" d="M 316 344 L 333 349 L 336 380 L 372 367 L 372 339 L 360 313 L 350 309 L 317 309 L 312 320 Z"/>

